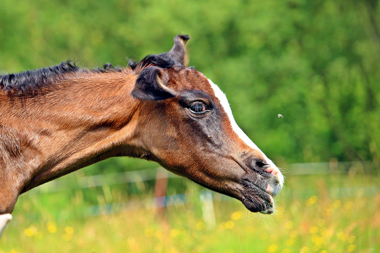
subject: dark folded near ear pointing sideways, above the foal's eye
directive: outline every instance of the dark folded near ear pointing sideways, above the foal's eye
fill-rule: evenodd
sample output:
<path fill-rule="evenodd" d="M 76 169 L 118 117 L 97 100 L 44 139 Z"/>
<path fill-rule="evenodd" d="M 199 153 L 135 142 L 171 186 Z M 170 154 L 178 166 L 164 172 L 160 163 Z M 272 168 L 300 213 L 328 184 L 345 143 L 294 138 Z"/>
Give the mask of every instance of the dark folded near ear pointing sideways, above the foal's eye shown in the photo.
<path fill-rule="evenodd" d="M 165 100 L 176 96 L 168 87 L 168 74 L 159 67 L 149 66 L 141 70 L 131 95 L 141 100 Z"/>

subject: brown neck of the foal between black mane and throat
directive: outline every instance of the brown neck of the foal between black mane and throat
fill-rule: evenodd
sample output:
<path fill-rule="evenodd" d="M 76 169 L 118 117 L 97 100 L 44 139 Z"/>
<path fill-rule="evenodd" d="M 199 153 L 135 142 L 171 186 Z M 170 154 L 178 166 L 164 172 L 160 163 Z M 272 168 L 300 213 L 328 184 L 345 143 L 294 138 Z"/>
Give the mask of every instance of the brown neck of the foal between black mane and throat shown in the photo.
<path fill-rule="evenodd" d="M 21 145 L 7 164 L 22 171 L 17 176 L 22 177 L 21 191 L 97 161 L 128 155 L 117 147 L 133 139 L 134 79 L 124 73 L 69 76 L 57 84 L 60 88 L 25 99 L 22 111 L 11 113 L 13 124 L 8 126 L 17 135 L 10 138 L 18 138 Z"/>

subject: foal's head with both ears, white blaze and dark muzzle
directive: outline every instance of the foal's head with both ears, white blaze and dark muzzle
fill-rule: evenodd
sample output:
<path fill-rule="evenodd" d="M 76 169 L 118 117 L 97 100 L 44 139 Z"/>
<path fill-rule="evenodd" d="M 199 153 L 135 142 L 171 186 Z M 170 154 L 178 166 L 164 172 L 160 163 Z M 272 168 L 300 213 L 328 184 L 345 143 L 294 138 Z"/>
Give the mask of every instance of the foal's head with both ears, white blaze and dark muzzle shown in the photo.
<path fill-rule="evenodd" d="M 141 158 L 239 199 L 252 212 L 272 213 L 282 173 L 239 128 L 222 90 L 186 66 L 188 40 L 178 35 L 169 52 L 132 65 L 139 115 L 133 145 Z"/>

